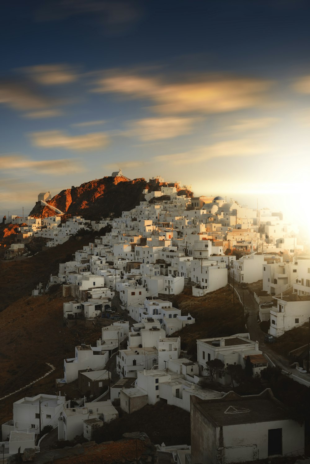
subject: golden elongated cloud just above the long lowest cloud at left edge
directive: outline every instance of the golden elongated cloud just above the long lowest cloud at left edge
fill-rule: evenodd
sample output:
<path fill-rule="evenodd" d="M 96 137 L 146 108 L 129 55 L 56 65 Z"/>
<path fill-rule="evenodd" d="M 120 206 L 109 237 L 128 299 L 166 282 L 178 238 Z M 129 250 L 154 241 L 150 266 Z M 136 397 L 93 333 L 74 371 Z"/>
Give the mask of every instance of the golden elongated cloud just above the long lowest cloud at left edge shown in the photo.
<path fill-rule="evenodd" d="M 106 147 L 109 138 L 103 132 L 84 135 L 67 135 L 61 130 L 47 130 L 30 134 L 32 145 L 40 148 L 65 148 L 67 150 L 96 150 Z"/>

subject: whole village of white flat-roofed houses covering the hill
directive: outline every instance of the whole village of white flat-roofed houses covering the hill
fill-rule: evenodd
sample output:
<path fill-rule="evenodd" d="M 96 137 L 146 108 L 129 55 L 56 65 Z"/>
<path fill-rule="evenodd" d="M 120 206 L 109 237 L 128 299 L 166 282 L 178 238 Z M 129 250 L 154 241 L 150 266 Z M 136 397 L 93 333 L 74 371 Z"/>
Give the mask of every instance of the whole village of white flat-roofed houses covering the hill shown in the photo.
<path fill-rule="evenodd" d="M 48 194 L 39 195 L 41 204 L 48 205 Z M 71 407 L 59 393 L 25 397 L 13 404 L 13 419 L 2 425 L 2 440 L 9 439 L 2 442 L 5 456 L 13 453 L 16 444 L 21 451 L 35 448 L 34 434 L 45 425 L 58 426 L 58 439 L 84 435 L 91 440 L 97 427 L 118 417 L 111 402 L 116 399 L 127 413 L 160 400 L 191 412 L 193 463 L 295 452 L 294 440 L 299 449 L 304 448 L 303 427 L 298 429 L 269 392 L 241 399 L 201 387 L 208 375 L 207 362 L 215 359 L 222 361 L 223 368 L 245 367 L 250 359 L 253 375 L 259 374 L 267 360 L 258 342 L 247 333 L 200 339 L 197 362 L 192 362 L 184 357 L 181 339 L 174 333 L 195 320 L 189 313 L 182 316 L 165 299 L 181 293 L 187 284 L 193 296 L 200 297 L 225 287 L 230 277 L 239 285 L 262 280 L 264 296 L 257 296 L 260 318 L 270 318 L 270 333 L 279 336 L 304 323 L 310 316 L 310 258 L 297 257 L 302 247 L 294 238 L 296 226 L 284 223 L 281 213 L 252 210 L 234 200 L 179 195 L 177 184 L 145 190 L 144 196 L 138 206 L 116 219 L 87 222 L 74 217 L 61 224 L 62 212 L 57 208 L 46 219 L 23 218 L 19 241 L 36 234 L 49 238 L 48 246 L 64 243 L 81 228 L 100 231 L 110 226 L 110 232 L 59 264 L 49 285 L 63 284 L 63 295 L 72 297 L 64 303 L 66 322 L 106 316 L 117 291 L 125 319 L 130 316 L 136 323 L 129 326 L 128 321 L 116 320 L 102 327 L 96 347 L 81 343 L 75 356 L 64 360 L 64 379 L 57 379 L 57 385 L 78 380 L 84 394 L 100 394 L 98 401 L 84 397 Z M 244 256 L 236 260 L 233 249 Z M 33 295 L 42 291 L 39 284 Z M 126 340 L 127 348 L 121 349 Z M 110 386 L 106 365 L 112 354 L 120 380 Z M 223 369 L 215 372 L 214 380 L 231 383 Z M 105 392 L 109 400 L 103 400 Z M 282 445 L 280 432 L 274 430 L 282 430 L 285 438 L 289 427 L 293 438 Z M 242 440 L 234 442 L 232 437 L 240 436 Z"/>

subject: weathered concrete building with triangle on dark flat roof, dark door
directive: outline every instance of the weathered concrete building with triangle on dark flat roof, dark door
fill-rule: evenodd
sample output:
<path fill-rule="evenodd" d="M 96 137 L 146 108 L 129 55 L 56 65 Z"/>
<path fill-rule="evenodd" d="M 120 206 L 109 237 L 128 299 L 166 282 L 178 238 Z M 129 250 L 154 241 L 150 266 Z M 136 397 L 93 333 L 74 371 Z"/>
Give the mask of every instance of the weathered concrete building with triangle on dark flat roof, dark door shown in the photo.
<path fill-rule="evenodd" d="M 304 453 L 304 425 L 270 389 L 191 399 L 192 464 L 228 464 Z"/>

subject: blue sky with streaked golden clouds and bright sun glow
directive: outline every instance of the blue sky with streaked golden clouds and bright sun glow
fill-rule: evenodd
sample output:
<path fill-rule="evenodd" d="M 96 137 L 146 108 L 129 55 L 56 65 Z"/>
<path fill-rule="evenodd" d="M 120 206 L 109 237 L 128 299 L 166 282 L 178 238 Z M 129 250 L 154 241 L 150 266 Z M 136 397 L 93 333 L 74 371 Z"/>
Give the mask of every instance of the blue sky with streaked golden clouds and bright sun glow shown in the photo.
<path fill-rule="evenodd" d="M 122 168 L 310 226 L 309 24 L 307 0 L 5 2 L 0 214 Z"/>

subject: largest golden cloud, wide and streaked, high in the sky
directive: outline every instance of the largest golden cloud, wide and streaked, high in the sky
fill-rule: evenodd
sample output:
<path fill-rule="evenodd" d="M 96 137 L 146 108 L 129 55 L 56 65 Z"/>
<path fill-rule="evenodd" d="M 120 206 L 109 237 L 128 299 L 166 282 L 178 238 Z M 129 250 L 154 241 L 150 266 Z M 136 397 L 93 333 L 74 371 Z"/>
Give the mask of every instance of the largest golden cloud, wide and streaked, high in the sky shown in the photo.
<path fill-rule="evenodd" d="M 115 70 L 99 78 L 91 91 L 147 98 L 155 103 L 153 109 L 162 114 L 221 113 L 260 106 L 271 84 L 262 79 L 202 74 L 191 81 L 167 83 Z"/>

